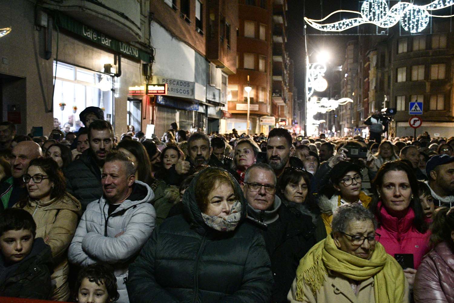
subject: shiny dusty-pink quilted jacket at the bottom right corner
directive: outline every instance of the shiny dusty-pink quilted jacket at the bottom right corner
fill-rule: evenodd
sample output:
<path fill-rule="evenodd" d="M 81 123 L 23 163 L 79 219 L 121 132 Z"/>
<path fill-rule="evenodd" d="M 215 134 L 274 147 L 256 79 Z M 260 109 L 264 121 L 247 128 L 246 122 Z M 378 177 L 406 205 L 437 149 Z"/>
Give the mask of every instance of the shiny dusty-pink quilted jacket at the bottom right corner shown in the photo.
<path fill-rule="evenodd" d="M 454 252 L 448 243 L 439 243 L 425 256 L 415 277 L 415 303 L 454 302 Z"/>

